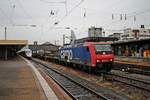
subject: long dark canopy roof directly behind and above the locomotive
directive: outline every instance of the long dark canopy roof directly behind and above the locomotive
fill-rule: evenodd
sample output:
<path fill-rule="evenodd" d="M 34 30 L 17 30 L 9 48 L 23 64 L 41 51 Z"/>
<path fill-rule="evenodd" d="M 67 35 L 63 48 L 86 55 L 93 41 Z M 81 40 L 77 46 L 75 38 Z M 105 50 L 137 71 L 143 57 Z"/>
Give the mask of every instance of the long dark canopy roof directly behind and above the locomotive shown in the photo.
<path fill-rule="evenodd" d="M 85 42 L 107 42 L 107 41 L 117 41 L 118 38 L 114 37 L 87 37 L 75 40 L 75 44 L 85 43 Z"/>

